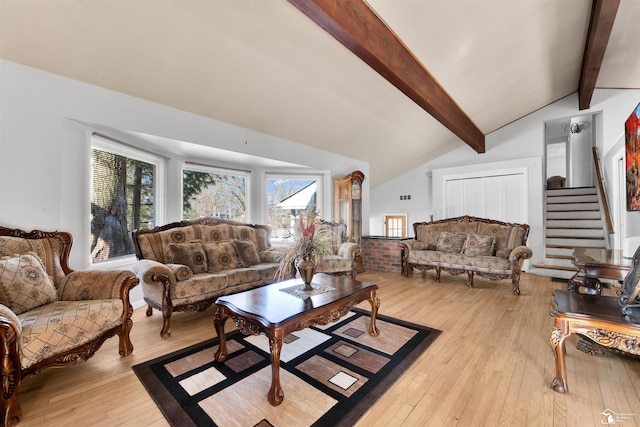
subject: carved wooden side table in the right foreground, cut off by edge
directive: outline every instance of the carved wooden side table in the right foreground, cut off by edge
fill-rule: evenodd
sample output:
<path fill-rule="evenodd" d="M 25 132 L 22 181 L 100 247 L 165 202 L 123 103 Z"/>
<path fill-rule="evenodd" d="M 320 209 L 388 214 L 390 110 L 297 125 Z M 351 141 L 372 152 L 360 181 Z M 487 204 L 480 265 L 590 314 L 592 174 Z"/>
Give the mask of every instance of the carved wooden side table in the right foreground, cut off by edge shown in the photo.
<path fill-rule="evenodd" d="M 556 377 L 551 383 L 555 391 L 568 391 L 565 339 L 572 333 L 603 347 L 640 356 L 640 315 L 624 316 L 619 298 L 565 290 L 556 290 L 553 296 L 551 316 L 555 326 L 549 341 L 556 358 Z"/>

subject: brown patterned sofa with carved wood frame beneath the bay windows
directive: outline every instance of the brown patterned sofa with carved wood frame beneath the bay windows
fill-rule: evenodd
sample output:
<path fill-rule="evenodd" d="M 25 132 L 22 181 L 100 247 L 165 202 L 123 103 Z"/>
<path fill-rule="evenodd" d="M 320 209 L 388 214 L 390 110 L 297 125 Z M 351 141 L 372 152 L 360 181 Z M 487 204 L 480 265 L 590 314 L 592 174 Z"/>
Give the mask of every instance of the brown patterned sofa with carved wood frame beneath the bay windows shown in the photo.
<path fill-rule="evenodd" d="M 220 296 L 276 281 L 279 253 L 267 225 L 206 217 L 136 230 L 132 238 L 147 316 L 161 311 L 162 337 L 176 311 L 204 311 Z M 293 269 L 283 279 L 291 277 Z"/>

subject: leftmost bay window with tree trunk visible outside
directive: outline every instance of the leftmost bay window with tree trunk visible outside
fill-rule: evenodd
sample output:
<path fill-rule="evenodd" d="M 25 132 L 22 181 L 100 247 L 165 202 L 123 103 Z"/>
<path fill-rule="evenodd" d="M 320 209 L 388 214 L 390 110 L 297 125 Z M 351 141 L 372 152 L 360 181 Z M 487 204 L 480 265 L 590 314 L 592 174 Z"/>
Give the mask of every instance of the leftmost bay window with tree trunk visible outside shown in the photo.
<path fill-rule="evenodd" d="M 92 137 L 91 263 L 134 254 L 131 231 L 154 227 L 162 160 Z"/>

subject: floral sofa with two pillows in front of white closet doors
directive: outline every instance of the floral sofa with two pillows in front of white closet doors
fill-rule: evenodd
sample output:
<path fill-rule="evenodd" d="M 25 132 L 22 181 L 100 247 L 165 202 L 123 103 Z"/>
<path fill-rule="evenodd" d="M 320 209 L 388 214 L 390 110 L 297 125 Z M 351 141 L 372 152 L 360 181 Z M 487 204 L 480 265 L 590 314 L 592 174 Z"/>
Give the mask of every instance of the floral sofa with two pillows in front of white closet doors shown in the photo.
<path fill-rule="evenodd" d="M 520 269 L 531 258 L 526 246 L 527 224 L 461 216 L 413 224 L 414 239 L 400 243 L 402 275 L 412 269 L 467 273 L 473 287 L 475 274 L 490 280 L 511 279 L 513 293 L 520 294 Z"/>

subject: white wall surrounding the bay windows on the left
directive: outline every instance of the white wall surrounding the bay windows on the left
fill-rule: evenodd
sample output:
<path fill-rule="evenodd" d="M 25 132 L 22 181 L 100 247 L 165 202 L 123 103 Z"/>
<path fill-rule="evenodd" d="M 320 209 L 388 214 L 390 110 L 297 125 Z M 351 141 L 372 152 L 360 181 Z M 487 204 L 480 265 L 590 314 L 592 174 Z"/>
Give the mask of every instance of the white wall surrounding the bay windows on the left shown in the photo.
<path fill-rule="evenodd" d="M 332 182 L 369 165 L 281 138 L 144 101 L 9 61 L 0 61 L 0 224 L 31 230 L 64 230 L 74 237 L 71 267 L 89 268 L 89 134 L 121 129 L 187 141 L 329 171 L 325 197 L 332 216 Z M 82 123 L 84 125 L 81 125 Z M 184 159 L 168 170 L 180 176 Z M 218 165 L 218 164 L 214 164 Z M 239 165 L 242 168 L 242 165 Z M 246 167 L 245 167 L 246 168 Z M 261 193 L 262 176 L 252 171 Z M 363 184 L 363 230 L 368 234 L 369 184 Z M 179 181 L 167 183 L 167 222 L 181 219 Z M 251 218 L 262 220 L 260 197 Z M 138 290 L 136 288 L 135 290 Z M 132 299 L 134 297 L 132 296 Z"/>

